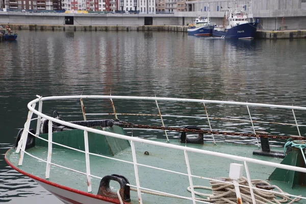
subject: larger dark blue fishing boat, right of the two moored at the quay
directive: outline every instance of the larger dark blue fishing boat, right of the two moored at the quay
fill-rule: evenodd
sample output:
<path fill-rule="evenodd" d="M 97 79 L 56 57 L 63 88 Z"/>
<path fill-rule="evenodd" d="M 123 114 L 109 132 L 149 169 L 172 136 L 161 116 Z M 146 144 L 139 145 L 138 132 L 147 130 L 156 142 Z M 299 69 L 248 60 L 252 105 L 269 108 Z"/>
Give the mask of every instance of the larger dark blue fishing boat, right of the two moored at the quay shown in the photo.
<path fill-rule="evenodd" d="M 251 9 L 245 11 L 246 6 L 228 8 L 225 10 L 223 25 L 213 30 L 213 37 L 231 39 L 253 39 L 256 37 L 257 22 L 254 22 Z"/>

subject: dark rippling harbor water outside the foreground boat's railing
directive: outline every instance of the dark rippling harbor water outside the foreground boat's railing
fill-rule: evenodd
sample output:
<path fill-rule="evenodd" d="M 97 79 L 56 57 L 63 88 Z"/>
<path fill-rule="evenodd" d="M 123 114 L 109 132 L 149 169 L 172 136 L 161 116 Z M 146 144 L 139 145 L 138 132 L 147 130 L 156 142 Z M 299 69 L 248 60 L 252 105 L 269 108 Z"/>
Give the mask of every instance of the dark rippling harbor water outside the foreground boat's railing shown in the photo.
<path fill-rule="evenodd" d="M 61 203 L 4 161 L 37 94 L 111 92 L 306 106 L 305 39 L 22 30 L 16 41 L 0 42 L 0 53 L 0 202 Z"/>

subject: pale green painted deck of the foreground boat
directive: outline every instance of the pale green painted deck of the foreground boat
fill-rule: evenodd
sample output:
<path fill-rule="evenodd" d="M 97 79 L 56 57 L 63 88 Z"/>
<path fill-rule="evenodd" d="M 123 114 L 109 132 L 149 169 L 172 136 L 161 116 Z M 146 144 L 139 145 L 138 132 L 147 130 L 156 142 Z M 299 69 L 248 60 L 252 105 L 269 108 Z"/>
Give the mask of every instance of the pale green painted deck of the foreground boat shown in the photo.
<path fill-rule="evenodd" d="M 154 139 L 155 141 L 165 142 L 164 140 Z M 177 140 L 171 140 L 171 144 L 184 145 L 179 143 Z M 198 144 L 187 144 L 189 147 L 211 150 L 216 152 L 222 152 L 226 154 L 248 157 L 253 159 L 260 159 L 264 161 L 270 161 L 275 163 L 281 163 L 282 159 L 253 156 L 252 151 L 257 149 L 254 145 L 243 145 L 243 144 L 231 144 L 231 143 L 218 143 L 213 145 L 211 143 L 198 145 Z M 137 162 L 139 164 L 151 165 L 155 167 L 165 168 L 168 170 L 179 171 L 187 173 L 184 151 L 169 149 L 165 147 L 159 147 L 154 145 L 148 145 L 144 143 L 135 143 Z M 283 148 L 272 148 L 272 150 L 282 151 Z M 149 155 L 144 155 L 144 151 L 148 151 Z M 47 147 L 36 146 L 29 149 L 28 152 L 36 157 L 46 160 L 47 158 Z M 230 164 L 240 163 L 239 161 L 223 159 L 213 156 L 205 156 L 195 154 L 192 152 L 188 153 L 191 172 L 193 175 L 199 175 L 202 177 L 222 177 L 228 176 L 230 170 Z M 132 162 L 131 148 L 119 152 L 114 158 Z M 17 166 L 19 155 L 11 151 L 8 154 L 8 159 L 14 165 Z M 79 171 L 86 172 L 85 167 L 85 155 L 81 152 L 76 152 L 67 149 L 53 149 L 52 162 L 63 165 L 69 168 L 73 168 Z M 133 164 L 122 163 L 107 158 L 99 158 L 96 156 L 90 156 L 91 173 L 96 176 L 103 177 L 110 174 L 120 174 L 125 176 L 132 185 L 136 185 L 134 166 Z M 46 163 L 38 162 L 36 159 L 24 155 L 23 166 L 20 169 L 29 172 L 33 175 L 44 178 Z M 172 194 L 182 195 L 191 197 L 191 193 L 187 191 L 189 186 L 188 176 L 173 174 L 162 170 L 151 169 L 143 166 L 138 166 L 139 169 L 139 180 L 140 185 L 144 188 L 150 188 L 158 191 L 164 191 Z M 248 163 L 248 169 L 250 171 L 251 179 L 262 179 L 267 180 L 269 175 L 275 168 L 256 165 Z M 246 176 L 244 171 L 244 176 Z M 68 186 L 74 189 L 87 191 L 86 175 L 80 175 L 79 173 L 71 172 L 69 170 L 52 166 L 50 170 L 50 182 L 58 183 L 64 186 Z M 100 180 L 92 179 L 92 189 L 94 194 L 98 191 L 98 185 Z M 193 178 L 194 185 L 209 186 L 209 182 L 203 179 Z M 303 195 L 305 196 L 305 187 L 297 186 L 295 189 L 291 189 L 288 183 L 270 181 L 270 184 L 277 185 L 282 190 L 288 193 Z M 118 185 L 111 183 L 114 187 Z M 201 191 L 200 192 L 205 192 Z M 206 191 L 211 193 L 210 191 Z M 138 203 L 137 193 L 131 191 L 132 203 Z M 192 203 L 192 201 L 173 199 L 166 197 L 159 197 L 154 195 L 142 194 L 144 203 Z M 306 200 L 301 200 L 298 203 L 306 203 Z"/>

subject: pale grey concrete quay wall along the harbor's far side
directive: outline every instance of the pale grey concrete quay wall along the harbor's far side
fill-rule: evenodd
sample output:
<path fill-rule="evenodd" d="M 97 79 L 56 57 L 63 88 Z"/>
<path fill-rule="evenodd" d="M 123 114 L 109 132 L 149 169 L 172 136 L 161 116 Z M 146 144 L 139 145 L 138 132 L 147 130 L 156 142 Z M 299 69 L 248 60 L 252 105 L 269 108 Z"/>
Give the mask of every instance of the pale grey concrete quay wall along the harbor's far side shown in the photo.
<path fill-rule="evenodd" d="M 289 11 L 287 11 L 289 13 Z M 73 17 L 74 25 L 145 25 L 145 18 L 152 18 L 152 25 L 187 25 L 195 20 L 196 12 L 175 12 L 174 14 L 64 14 L 64 13 L 21 13 L 0 12 L 0 24 L 49 24 L 64 25 L 65 17 Z M 223 12 L 211 12 L 212 22 L 223 24 Z M 296 13 L 296 16 L 285 15 L 272 17 L 262 11 L 261 17 L 254 15 L 254 19 L 261 24 L 261 30 L 306 29 L 306 10 Z M 283 19 L 284 17 L 284 19 Z"/>

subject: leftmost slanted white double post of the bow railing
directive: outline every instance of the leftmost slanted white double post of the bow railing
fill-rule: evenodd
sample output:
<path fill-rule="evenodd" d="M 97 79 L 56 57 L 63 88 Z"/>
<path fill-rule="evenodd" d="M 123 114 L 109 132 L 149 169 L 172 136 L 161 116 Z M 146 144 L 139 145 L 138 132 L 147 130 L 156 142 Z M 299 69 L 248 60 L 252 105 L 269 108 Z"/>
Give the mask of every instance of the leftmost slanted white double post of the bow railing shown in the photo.
<path fill-rule="evenodd" d="M 35 109 L 35 106 L 36 106 L 36 104 L 33 104 L 32 108 Z M 21 150 L 18 166 L 22 165 L 23 156 L 24 156 L 24 150 L 25 150 L 25 145 L 27 145 L 28 131 L 30 129 L 30 123 L 31 123 L 32 115 L 33 115 L 33 112 L 29 111 L 28 117 L 27 117 L 27 122 L 24 123 L 24 129 L 23 129 L 23 132 L 21 134 L 21 137 L 20 137 L 20 140 L 18 142 L 17 149 L 16 149 L 16 153 L 17 154 Z M 21 144 L 21 142 L 22 142 L 22 144 Z M 21 147 L 20 147 L 20 144 L 21 144 Z"/>

